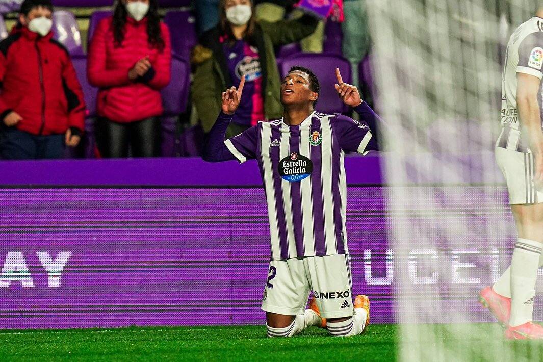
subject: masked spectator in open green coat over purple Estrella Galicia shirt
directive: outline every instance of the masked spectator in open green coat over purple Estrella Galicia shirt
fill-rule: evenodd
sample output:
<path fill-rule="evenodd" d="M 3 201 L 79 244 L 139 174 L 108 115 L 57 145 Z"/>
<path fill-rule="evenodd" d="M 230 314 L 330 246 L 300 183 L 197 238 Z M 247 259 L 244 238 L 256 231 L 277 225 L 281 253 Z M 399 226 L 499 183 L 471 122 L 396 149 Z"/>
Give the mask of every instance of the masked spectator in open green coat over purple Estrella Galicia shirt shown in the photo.
<path fill-rule="evenodd" d="M 192 101 L 205 132 L 219 115 L 222 92 L 237 87 L 243 75 L 243 98 L 227 136 L 239 134 L 258 120 L 283 115 L 274 46 L 311 34 L 317 19 L 304 15 L 298 20 L 257 22 L 253 10 L 250 0 L 220 0 L 218 26 L 207 31 L 194 48 Z"/>

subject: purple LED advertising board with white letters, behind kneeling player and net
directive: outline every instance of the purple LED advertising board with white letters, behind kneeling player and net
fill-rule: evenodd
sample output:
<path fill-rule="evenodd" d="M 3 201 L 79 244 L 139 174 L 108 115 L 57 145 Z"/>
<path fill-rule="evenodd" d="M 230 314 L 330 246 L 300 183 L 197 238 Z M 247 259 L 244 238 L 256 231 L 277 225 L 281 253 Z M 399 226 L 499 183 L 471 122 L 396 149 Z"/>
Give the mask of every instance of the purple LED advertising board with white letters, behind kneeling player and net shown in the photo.
<path fill-rule="evenodd" d="M 397 187 L 347 193 L 353 293 L 369 295 L 372 322 L 393 322 L 402 308 L 423 321 L 438 300 L 492 321 L 477 293 L 510 261 L 506 188 Z M 398 195 L 418 206 L 387 209 Z M 443 205 L 429 214 L 435 195 Z M 391 223 L 462 227 L 425 249 L 424 235 L 392 239 Z M 263 323 L 268 261 L 261 188 L 0 189 L 0 329 Z"/>

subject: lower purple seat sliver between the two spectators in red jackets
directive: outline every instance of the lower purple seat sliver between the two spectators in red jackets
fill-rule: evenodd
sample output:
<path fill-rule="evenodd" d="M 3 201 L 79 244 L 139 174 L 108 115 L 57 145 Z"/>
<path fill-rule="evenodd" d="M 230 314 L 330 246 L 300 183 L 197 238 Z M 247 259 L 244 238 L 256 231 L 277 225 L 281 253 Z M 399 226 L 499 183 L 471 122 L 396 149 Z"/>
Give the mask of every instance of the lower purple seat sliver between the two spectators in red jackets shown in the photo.
<path fill-rule="evenodd" d="M 85 105 L 87 106 L 87 119 L 85 120 L 85 134 L 83 136 L 84 157 L 94 157 L 94 145 L 96 140 L 94 137 L 94 117 L 96 117 L 96 98 L 98 96 L 98 88 L 93 87 L 87 80 L 87 57 L 85 55 L 72 56 L 72 63 L 79 79 L 79 84 L 83 88 L 85 97 Z"/>

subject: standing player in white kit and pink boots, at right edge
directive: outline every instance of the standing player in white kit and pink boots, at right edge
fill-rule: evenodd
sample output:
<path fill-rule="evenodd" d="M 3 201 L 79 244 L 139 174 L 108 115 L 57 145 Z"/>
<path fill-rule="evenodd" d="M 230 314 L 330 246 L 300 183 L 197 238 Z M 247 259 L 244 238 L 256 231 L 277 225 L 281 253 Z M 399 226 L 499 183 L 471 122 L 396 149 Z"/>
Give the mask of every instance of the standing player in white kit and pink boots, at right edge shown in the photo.
<path fill-rule="evenodd" d="M 507 182 L 517 229 L 509 268 L 479 302 L 494 313 L 508 339 L 543 339 L 532 322 L 535 283 L 543 265 L 543 8 L 510 37 L 502 75 L 502 132 L 496 161 Z"/>

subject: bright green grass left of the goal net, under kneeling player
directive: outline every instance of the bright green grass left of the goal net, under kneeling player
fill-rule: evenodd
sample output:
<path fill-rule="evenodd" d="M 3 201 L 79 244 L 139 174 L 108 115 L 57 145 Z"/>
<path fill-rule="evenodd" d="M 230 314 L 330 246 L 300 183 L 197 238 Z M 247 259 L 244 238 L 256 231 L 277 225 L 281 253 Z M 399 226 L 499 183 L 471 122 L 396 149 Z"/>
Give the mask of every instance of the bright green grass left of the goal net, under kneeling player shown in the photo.
<path fill-rule="evenodd" d="M 267 338 L 265 326 L 158 327 L 0 331 L 0 361 L 46 360 L 356 360 L 395 358 L 394 325 L 370 325 L 363 335 L 334 338 L 309 328 L 289 339 Z M 369 357 L 369 359 L 368 359 Z"/>

